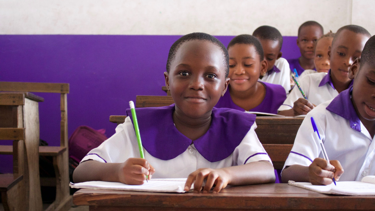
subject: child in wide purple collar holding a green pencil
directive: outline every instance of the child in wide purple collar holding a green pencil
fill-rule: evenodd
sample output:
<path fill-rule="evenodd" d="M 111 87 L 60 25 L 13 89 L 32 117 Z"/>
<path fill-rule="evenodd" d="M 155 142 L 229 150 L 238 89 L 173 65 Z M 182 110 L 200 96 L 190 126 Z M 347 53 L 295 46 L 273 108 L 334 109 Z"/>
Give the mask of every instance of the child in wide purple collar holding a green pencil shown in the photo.
<path fill-rule="evenodd" d="M 213 108 L 228 86 L 228 51 L 216 38 L 191 33 L 169 50 L 165 83 L 175 102 L 136 109 L 145 159 L 140 158 L 131 112 L 116 133 L 90 151 L 74 182 L 143 184 L 148 178 L 187 178 L 185 190 L 217 193 L 226 185 L 275 181 L 254 129 L 255 115 Z"/>

